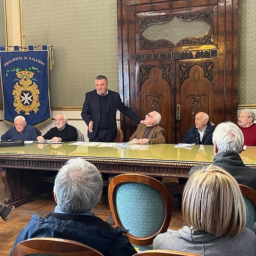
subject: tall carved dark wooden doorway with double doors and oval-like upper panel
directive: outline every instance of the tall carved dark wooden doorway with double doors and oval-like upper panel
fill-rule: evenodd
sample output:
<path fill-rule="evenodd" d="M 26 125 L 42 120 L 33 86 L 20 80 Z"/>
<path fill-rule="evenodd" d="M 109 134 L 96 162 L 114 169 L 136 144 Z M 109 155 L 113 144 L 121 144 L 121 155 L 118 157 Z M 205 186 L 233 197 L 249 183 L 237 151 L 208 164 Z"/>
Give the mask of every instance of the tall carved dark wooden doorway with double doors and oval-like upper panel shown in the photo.
<path fill-rule="evenodd" d="M 237 1 L 118 1 L 120 94 L 139 116 L 156 110 L 168 143 L 195 115 L 237 119 Z M 136 129 L 121 120 L 127 140 Z"/>

